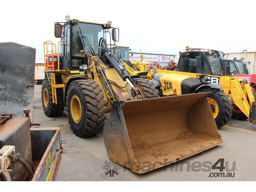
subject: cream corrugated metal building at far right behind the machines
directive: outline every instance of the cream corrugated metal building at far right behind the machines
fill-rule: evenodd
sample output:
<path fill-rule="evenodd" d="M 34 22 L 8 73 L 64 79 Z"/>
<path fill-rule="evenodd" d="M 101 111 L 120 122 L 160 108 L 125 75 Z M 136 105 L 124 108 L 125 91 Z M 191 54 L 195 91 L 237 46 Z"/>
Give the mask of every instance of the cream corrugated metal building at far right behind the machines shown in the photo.
<path fill-rule="evenodd" d="M 237 59 L 244 58 L 244 61 L 248 65 L 248 68 L 250 69 L 250 72 L 252 74 L 255 74 L 255 62 L 256 62 L 256 52 L 241 52 L 241 53 L 226 53 L 226 57 L 228 59 L 234 59 L 234 57 L 237 57 Z"/>

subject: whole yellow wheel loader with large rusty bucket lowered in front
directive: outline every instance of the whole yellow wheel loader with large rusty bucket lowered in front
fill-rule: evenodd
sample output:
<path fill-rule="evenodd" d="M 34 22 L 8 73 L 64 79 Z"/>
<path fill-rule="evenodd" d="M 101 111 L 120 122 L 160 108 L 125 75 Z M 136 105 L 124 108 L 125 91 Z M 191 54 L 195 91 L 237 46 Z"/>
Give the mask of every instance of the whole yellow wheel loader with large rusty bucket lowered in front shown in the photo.
<path fill-rule="evenodd" d="M 66 106 L 79 137 L 103 129 L 110 160 L 140 174 L 222 143 L 209 93 L 159 98 L 152 81 L 129 75 L 108 49 L 111 42 L 105 34 L 118 41 L 118 32 L 111 23 L 55 23 L 55 36 L 61 40 L 57 46 L 44 42 L 45 114 L 60 116 Z"/>

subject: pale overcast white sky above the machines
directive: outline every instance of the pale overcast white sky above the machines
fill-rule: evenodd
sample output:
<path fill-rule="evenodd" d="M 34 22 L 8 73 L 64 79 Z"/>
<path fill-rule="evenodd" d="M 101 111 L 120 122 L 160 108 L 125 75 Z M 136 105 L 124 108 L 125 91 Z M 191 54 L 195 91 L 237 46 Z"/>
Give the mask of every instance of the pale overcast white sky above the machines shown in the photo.
<path fill-rule="evenodd" d="M 120 30 L 118 45 L 133 52 L 177 54 L 190 48 L 225 53 L 256 51 L 254 1 L 2 1 L 0 42 L 36 48 L 57 42 L 54 23 L 65 16 L 84 22 L 112 22 Z"/>

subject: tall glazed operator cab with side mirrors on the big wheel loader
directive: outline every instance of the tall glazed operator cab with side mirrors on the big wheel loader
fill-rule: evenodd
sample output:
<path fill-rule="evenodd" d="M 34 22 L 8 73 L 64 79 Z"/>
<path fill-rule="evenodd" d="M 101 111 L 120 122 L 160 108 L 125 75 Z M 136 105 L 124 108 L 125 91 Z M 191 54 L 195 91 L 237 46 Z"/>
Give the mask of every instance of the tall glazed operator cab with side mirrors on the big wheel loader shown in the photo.
<path fill-rule="evenodd" d="M 76 19 L 55 23 L 55 37 L 60 37 L 62 41 L 59 45 L 60 70 L 82 71 L 81 66 L 87 64 L 86 58 L 99 53 L 100 39 L 106 39 L 106 33 L 110 31 L 116 34 L 116 29 L 111 24 L 86 23 Z M 112 39 L 116 40 L 113 32 Z"/>

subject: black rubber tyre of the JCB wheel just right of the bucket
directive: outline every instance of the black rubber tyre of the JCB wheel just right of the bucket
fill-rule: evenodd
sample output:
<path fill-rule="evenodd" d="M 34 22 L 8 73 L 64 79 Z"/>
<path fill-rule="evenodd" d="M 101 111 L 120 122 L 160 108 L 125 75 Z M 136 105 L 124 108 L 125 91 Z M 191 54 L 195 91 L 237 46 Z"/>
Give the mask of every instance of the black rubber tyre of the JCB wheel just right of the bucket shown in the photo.
<path fill-rule="evenodd" d="M 211 94 L 208 96 L 214 99 L 219 105 L 219 114 L 215 118 L 216 125 L 218 129 L 225 125 L 232 116 L 232 105 L 231 101 L 223 91 L 215 90 L 215 89 L 203 89 L 199 91 L 199 93 L 210 92 Z"/>

